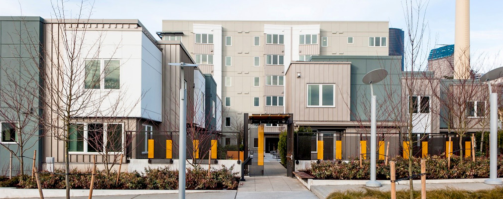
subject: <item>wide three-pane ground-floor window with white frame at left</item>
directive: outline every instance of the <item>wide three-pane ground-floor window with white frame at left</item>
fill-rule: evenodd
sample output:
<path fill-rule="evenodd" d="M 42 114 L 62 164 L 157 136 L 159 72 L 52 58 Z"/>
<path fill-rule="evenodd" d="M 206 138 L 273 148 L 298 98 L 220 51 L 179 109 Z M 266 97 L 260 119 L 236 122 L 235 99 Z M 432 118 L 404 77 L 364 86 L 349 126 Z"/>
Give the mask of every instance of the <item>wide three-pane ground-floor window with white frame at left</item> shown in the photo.
<path fill-rule="evenodd" d="M 71 153 L 119 153 L 124 131 L 119 123 L 74 123 L 69 132 Z"/>

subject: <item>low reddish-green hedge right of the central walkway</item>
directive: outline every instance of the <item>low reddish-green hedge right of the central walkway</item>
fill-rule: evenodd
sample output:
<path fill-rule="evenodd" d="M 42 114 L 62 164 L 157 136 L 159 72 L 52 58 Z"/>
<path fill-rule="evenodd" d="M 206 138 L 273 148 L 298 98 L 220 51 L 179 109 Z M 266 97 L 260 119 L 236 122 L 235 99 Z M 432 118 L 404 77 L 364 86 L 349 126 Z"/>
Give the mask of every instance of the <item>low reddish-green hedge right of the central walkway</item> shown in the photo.
<path fill-rule="evenodd" d="M 447 168 L 447 159 L 440 156 L 431 156 L 426 159 L 427 179 L 454 179 L 454 178 L 488 178 L 489 158 L 476 157 L 475 162 L 470 158 L 464 159 L 463 164 L 459 163 L 459 156 L 451 157 L 451 168 Z M 395 161 L 396 178 L 408 176 L 408 159 L 402 157 L 391 158 Z M 499 156 L 498 177 L 503 176 L 503 157 Z M 370 179 L 370 161 L 364 160 L 360 168 L 359 160 L 350 161 L 322 161 L 312 163 L 311 169 L 307 171 L 315 179 Z M 413 158 L 412 173 L 421 173 L 421 158 Z M 376 178 L 379 180 L 389 179 L 389 164 L 384 165 L 383 160 L 376 163 Z M 417 178 L 419 179 L 419 178 Z"/>

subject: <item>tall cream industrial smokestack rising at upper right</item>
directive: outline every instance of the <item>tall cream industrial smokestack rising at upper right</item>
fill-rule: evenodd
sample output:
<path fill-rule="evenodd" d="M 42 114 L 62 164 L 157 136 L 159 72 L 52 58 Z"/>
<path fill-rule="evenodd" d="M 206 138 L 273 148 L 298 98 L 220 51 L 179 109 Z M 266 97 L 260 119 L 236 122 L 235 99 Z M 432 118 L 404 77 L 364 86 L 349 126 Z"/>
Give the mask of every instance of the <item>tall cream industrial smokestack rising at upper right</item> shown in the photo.
<path fill-rule="evenodd" d="M 470 0 L 456 0 L 454 79 L 470 78 Z"/>

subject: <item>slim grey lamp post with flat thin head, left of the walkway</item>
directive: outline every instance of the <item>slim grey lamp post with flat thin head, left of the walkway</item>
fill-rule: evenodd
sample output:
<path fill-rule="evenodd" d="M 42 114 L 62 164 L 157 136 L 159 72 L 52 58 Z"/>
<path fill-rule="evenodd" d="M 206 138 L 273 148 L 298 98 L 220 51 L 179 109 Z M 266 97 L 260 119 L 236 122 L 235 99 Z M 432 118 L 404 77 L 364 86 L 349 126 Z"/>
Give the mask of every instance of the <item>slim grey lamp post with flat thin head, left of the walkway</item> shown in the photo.
<path fill-rule="evenodd" d="M 187 89 L 185 88 L 184 66 L 195 67 L 197 64 L 169 63 L 180 66 L 180 133 L 179 133 L 179 167 L 178 167 L 178 198 L 185 199 L 185 160 L 187 145 Z"/>

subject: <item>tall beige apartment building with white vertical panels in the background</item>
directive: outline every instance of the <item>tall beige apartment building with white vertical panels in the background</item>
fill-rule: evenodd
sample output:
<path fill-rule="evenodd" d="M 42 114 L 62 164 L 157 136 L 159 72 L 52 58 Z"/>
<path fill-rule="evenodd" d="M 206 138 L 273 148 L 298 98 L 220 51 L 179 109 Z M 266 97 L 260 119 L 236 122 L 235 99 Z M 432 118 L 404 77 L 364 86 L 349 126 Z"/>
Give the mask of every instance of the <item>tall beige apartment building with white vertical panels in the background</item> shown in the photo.
<path fill-rule="evenodd" d="M 223 132 L 230 132 L 242 123 L 243 113 L 285 113 L 284 76 L 292 61 L 313 55 L 387 56 L 392 45 L 396 54 L 403 51 L 403 31 L 393 31 L 388 22 L 164 20 L 157 34 L 182 41 L 201 70 L 213 75 L 224 105 Z M 266 145 L 275 142 L 278 129 L 266 126 Z"/>

